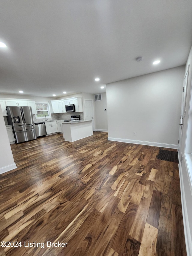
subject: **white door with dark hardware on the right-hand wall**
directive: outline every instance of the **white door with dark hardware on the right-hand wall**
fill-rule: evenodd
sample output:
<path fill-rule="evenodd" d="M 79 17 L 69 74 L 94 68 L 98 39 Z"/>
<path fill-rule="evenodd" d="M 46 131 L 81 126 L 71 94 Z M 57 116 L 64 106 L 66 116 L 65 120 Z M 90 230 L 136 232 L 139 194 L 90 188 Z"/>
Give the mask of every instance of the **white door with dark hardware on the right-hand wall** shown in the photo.
<path fill-rule="evenodd" d="M 188 82 L 188 73 L 189 73 L 189 65 L 188 70 L 184 77 L 183 82 L 183 94 L 182 94 L 182 106 L 181 106 L 181 116 L 180 116 L 180 129 L 179 129 L 179 146 L 178 146 L 178 152 L 179 152 L 179 158 L 181 160 L 181 144 L 182 144 L 182 135 L 183 135 L 183 125 L 184 125 L 184 118 L 185 118 L 185 107 L 186 107 L 186 95 L 187 95 L 187 82 Z"/>

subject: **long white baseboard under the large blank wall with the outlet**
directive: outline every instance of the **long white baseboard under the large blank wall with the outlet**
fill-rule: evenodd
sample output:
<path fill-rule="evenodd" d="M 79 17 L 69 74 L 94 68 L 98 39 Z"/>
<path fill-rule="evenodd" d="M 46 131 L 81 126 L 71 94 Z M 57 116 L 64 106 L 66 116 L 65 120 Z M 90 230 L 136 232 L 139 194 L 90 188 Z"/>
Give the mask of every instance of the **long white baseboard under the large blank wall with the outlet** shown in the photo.
<path fill-rule="evenodd" d="M 159 143 L 159 142 L 151 142 L 151 141 L 143 141 L 143 140 L 128 140 L 128 139 L 120 139 L 120 138 L 112 138 L 112 137 L 108 137 L 108 140 L 132 143 L 132 144 L 140 144 L 140 145 L 149 145 L 149 146 L 169 148 L 169 149 L 178 149 L 178 145 Z"/>

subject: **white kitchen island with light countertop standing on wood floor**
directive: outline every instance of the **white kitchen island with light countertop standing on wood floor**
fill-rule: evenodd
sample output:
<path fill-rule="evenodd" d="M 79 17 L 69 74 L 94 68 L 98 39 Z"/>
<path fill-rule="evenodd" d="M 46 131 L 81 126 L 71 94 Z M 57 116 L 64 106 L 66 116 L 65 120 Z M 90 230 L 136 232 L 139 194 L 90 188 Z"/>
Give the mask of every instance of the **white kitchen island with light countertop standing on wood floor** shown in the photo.
<path fill-rule="evenodd" d="M 66 141 L 76 141 L 93 135 L 92 120 L 63 122 L 63 137 Z"/>

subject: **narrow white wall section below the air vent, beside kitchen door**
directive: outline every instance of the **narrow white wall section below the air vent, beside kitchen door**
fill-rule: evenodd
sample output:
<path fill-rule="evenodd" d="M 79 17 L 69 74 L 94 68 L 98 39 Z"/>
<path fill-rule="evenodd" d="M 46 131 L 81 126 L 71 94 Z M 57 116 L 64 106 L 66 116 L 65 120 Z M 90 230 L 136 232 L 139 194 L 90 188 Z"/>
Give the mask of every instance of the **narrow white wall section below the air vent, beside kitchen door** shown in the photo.
<path fill-rule="evenodd" d="M 108 131 L 107 127 L 107 95 L 101 94 L 102 101 L 95 101 L 95 130 Z M 106 109 L 106 110 L 105 110 Z"/>

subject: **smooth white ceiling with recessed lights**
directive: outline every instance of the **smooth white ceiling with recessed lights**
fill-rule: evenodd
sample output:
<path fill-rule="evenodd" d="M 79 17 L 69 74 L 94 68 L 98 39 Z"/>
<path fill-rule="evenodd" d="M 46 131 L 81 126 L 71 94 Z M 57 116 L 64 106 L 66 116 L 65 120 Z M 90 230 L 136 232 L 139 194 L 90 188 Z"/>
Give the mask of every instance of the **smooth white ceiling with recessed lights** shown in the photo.
<path fill-rule="evenodd" d="M 1 0 L 0 24 L 0 93 L 95 94 L 103 84 L 184 65 L 192 1 Z"/>

